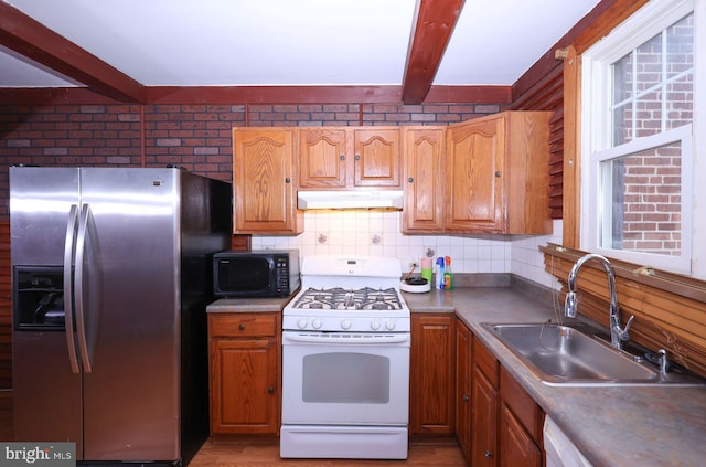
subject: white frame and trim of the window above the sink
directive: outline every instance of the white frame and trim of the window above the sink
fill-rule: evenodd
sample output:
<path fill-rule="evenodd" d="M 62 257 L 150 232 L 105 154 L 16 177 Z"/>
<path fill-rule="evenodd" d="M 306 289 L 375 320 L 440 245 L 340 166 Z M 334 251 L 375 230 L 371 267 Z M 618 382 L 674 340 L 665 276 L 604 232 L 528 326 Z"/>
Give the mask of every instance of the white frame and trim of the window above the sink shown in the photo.
<path fill-rule="evenodd" d="M 600 238 L 600 222 L 598 222 L 599 199 L 599 163 L 597 151 L 602 152 L 602 160 L 617 157 L 614 151 L 608 150 L 611 144 L 610 130 L 610 64 L 620 60 L 633 49 L 652 39 L 660 31 L 668 28 L 680 19 L 694 11 L 695 18 L 695 63 L 694 63 L 694 123 L 688 126 L 691 134 L 686 138 L 682 134 L 675 135 L 673 131 L 656 138 L 640 138 L 623 145 L 622 149 L 631 148 L 649 149 L 661 146 L 665 142 L 682 140 L 684 145 L 692 144 L 692 151 L 685 151 L 682 160 L 682 185 L 683 193 L 693 193 L 692 198 L 684 197 L 682 222 L 689 231 L 682 233 L 682 256 L 674 256 L 627 252 L 619 250 L 608 250 L 598 247 Z M 580 247 L 586 251 L 603 254 L 609 257 L 623 259 L 632 263 L 643 264 L 664 270 L 680 274 L 693 275 L 706 278 L 706 246 L 699 246 L 696 238 L 700 231 L 702 235 L 706 229 L 706 183 L 702 176 L 699 183 L 698 170 L 704 171 L 706 155 L 700 157 L 699 148 L 706 149 L 705 131 L 699 131 L 699 116 L 706 115 L 706 104 L 704 98 L 704 81 L 706 81 L 706 51 L 699 50 L 699 44 L 706 43 L 706 0 L 652 0 L 631 18 L 616 28 L 608 36 L 596 43 L 581 56 L 582 83 L 590 83 L 581 89 L 581 222 L 580 222 Z M 616 45 L 619 44 L 619 45 Z M 699 84 L 699 82 L 702 82 Z M 697 97 L 698 96 L 698 97 Z M 602 102 L 606 106 L 592 105 Z M 700 135 L 699 135 L 700 132 Z M 691 136 L 694 136 L 692 141 Z M 648 141 L 642 141 L 643 139 Z M 644 147 L 641 147 L 644 146 Z M 603 152 L 605 151 L 605 152 Z M 622 152 L 621 152 L 622 153 Z M 685 159 L 686 158 L 686 159 Z M 703 243 L 703 242 L 702 242 Z"/>

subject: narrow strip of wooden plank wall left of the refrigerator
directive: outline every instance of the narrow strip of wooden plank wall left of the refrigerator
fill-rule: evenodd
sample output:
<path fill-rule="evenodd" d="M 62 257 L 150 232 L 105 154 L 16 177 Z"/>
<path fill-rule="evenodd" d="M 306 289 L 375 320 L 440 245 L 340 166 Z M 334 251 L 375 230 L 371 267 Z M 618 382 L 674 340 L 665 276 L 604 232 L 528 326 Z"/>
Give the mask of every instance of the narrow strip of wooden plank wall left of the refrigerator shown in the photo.
<path fill-rule="evenodd" d="M 10 222 L 0 222 L 0 390 L 12 388 Z"/>

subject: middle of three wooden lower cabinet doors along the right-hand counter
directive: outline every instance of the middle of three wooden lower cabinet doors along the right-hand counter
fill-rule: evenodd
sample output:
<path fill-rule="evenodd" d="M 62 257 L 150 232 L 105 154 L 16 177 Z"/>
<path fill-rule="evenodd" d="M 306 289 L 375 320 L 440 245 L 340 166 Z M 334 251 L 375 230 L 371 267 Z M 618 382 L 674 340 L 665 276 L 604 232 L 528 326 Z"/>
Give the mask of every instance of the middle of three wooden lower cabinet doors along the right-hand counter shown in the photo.
<path fill-rule="evenodd" d="M 471 465 L 498 465 L 498 390 L 478 368 L 473 370 Z"/>

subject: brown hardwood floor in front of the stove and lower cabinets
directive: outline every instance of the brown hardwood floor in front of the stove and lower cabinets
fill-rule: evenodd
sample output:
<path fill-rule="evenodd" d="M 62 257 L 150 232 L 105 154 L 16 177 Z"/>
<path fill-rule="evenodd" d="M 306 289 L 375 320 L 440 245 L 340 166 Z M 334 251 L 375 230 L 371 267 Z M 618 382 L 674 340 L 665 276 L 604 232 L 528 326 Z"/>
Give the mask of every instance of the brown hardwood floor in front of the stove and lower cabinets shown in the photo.
<path fill-rule="evenodd" d="M 12 441 L 12 391 L 0 391 L 0 442 Z M 213 436 L 189 467 L 463 467 L 461 450 L 451 438 L 414 442 L 406 460 L 281 459 L 277 438 Z"/>

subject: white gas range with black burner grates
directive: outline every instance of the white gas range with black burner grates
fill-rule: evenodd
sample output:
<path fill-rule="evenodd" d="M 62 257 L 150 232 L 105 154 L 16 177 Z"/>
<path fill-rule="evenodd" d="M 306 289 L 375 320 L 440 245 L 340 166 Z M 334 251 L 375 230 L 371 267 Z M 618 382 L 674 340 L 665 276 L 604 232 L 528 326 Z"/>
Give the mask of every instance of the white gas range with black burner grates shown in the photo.
<path fill-rule="evenodd" d="M 409 308 L 397 258 L 311 256 L 282 312 L 281 457 L 407 457 Z"/>

